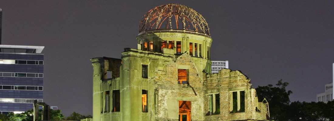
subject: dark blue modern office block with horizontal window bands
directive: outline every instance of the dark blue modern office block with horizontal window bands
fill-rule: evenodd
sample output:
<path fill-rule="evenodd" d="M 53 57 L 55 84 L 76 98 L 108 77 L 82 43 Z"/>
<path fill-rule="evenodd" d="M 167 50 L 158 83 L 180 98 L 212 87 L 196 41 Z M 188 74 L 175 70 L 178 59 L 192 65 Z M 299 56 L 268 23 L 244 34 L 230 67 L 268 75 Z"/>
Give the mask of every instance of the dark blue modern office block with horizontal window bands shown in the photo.
<path fill-rule="evenodd" d="M 0 112 L 21 113 L 43 100 L 42 46 L 0 45 Z"/>

